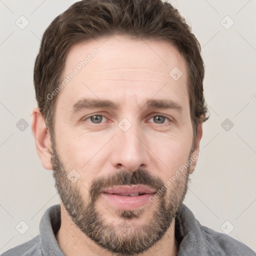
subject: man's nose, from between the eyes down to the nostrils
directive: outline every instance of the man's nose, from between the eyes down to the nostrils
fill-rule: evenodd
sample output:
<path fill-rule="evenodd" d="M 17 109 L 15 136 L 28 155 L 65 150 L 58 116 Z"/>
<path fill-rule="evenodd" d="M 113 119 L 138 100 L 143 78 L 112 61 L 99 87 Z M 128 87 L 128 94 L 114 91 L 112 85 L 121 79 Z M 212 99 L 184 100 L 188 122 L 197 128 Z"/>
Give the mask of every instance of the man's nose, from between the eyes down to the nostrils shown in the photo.
<path fill-rule="evenodd" d="M 146 146 L 141 128 L 132 124 L 124 131 L 120 127 L 117 127 L 117 134 L 114 136 L 112 166 L 127 171 L 134 171 L 139 167 L 147 168 L 150 150 Z"/>

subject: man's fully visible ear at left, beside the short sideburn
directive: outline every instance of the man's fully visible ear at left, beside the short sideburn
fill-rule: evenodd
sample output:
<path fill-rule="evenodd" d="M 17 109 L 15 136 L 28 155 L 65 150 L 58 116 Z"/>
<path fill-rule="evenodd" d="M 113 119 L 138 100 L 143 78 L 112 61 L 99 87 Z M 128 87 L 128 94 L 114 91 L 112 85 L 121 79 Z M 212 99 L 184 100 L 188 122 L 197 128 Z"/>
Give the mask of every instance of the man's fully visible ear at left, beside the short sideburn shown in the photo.
<path fill-rule="evenodd" d="M 38 107 L 35 107 L 32 111 L 32 132 L 36 151 L 41 159 L 41 164 L 45 169 L 51 170 L 50 134 L 49 130 L 46 128 L 44 118 Z"/>

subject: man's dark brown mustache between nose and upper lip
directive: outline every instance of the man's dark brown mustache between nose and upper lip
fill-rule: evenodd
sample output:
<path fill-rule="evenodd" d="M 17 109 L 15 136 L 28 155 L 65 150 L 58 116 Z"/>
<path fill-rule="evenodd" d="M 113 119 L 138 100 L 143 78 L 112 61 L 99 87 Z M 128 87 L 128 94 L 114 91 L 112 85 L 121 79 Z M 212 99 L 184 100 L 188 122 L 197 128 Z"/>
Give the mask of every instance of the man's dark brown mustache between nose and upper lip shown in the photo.
<path fill-rule="evenodd" d="M 89 195 L 90 200 L 95 201 L 99 194 L 108 187 L 116 185 L 146 185 L 158 191 L 164 186 L 163 181 L 159 177 L 152 176 L 147 170 L 138 168 L 135 171 L 120 170 L 104 177 L 97 177 L 92 181 Z M 164 196 L 166 190 L 162 191 Z"/>

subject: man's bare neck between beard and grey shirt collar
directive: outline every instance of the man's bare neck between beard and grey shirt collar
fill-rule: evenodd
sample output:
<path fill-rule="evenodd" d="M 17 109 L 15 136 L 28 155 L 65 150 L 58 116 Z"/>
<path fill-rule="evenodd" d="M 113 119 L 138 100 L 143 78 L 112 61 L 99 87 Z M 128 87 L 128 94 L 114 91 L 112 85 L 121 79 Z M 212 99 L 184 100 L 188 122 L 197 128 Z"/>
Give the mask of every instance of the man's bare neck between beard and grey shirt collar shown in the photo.
<path fill-rule="evenodd" d="M 63 251 L 65 256 L 83 256 L 84 251 L 86 255 L 105 255 L 111 256 L 115 255 L 106 249 L 103 249 L 87 237 L 72 221 L 68 213 L 62 204 L 61 207 L 61 225 L 56 233 L 56 240 L 60 249 Z M 174 238 L 174 225 L 175 221 L 173 219 L 170 227 L 167 229 L 163 237 L 157 241 L 152 247 L 143 253 L 144 256 L 175 256 L 178 251 L 178 244 L 175 242 Z M 120 254 L 116 254 L 121 256 Z M 133 256 L 138 254 L 133 254 Z"/>

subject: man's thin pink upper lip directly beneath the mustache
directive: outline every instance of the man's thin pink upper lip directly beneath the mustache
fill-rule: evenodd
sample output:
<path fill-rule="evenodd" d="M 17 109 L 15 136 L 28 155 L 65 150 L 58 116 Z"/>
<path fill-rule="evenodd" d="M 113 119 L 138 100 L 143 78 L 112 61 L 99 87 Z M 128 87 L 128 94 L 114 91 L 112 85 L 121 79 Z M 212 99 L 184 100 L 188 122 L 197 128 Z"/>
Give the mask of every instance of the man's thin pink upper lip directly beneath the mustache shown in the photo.
<path fill-rule="evenodd" d="M 120 186 L 113 186 L 104 189 L 102 192 L 109 193 L 109 194 L 133 194 L 133 193 L 140 193 L 140 194 L 148 194 L 154 193 L 155 190 L 149 188 L 144 185 L 120 185 Z"/>

